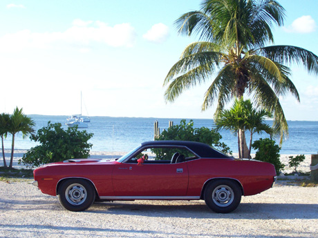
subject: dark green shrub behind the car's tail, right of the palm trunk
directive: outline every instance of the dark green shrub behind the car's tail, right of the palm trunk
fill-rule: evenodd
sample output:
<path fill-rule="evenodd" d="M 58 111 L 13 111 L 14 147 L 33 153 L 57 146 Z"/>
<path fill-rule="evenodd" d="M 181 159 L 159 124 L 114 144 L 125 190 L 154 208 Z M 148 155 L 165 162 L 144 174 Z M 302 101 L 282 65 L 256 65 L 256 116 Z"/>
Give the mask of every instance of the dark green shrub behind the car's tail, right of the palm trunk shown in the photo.
<path fill-rule="evenodd" d="M 279 151 L 281 148 L 277 146 L 275 141 L 272 139 L 259 139 L 254 141 L 252 147 L 256 151 L 255 159 L 259 161 L 265 161 L 272 163 L 275 166 L 277 175 L 279 175 L 280 170 L 284 168 L 283 163 L 279 160 Z"/>

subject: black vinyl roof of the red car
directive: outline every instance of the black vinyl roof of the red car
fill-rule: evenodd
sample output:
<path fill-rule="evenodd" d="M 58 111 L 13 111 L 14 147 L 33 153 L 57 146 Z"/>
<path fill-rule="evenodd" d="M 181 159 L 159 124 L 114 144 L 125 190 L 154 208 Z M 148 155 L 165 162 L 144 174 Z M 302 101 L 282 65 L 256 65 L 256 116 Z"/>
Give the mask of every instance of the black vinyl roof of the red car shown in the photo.
<path fill-rule="evenodd" d="M 222 152 L 215 150 L 205 143 L 195 141 L 147 141 L 141 144 L 142 146 L 184 146 L 203 158 L 229 158 Z"/>

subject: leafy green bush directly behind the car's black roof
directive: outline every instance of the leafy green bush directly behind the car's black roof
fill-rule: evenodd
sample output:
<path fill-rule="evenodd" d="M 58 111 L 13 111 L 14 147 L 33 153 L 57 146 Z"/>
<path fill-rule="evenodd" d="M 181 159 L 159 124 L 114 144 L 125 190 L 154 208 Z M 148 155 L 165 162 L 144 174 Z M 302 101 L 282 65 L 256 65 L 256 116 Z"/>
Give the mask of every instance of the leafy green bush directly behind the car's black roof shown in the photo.
<path fill-rule="evenodd" d="M 225 143 L 221 142 L 221 139 L 222 136 L 215 129 L 209 130 L 206 127 L 194 128 L 193 120 L 186 123 L 186 120 L 183 119 L 179 125 L 170 126 L 168 130 L 164 130 L 156 141 L 197 141 L 206 143 L 231 155 L 232 151 Z"/>

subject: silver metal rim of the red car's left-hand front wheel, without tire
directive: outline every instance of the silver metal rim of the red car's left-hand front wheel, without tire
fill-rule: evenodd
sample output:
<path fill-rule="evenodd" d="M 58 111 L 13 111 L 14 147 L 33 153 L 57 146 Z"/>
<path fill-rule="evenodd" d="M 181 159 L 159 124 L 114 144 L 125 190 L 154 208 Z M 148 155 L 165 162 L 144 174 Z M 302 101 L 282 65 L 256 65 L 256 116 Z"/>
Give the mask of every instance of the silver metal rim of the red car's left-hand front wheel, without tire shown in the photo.
<path fill-rule="evenodd" d="M 65 197 L 72 205 L 83 204 L 87 197 L 86 188 L 82 184 L 71 184 L 65 190 Z"/>

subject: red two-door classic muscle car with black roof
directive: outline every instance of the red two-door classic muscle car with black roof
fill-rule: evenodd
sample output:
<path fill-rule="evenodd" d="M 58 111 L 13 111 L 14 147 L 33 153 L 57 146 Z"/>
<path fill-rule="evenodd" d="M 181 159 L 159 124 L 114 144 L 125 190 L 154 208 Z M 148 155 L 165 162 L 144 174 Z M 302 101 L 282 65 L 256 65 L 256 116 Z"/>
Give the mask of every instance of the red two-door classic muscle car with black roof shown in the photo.
<path fill-rule="evenodd" d="M 41 192 L 59 196 L 67 210 L 94 201 L 198 200 L 214 212 L 232 212 L 241 196 L 256 195 L 276 181 L 271 163 L 228 157 L 204 143 L 144 142 L 115 161 L 68 159 L 34 170 Z"/>

